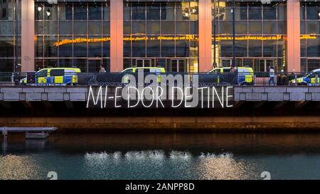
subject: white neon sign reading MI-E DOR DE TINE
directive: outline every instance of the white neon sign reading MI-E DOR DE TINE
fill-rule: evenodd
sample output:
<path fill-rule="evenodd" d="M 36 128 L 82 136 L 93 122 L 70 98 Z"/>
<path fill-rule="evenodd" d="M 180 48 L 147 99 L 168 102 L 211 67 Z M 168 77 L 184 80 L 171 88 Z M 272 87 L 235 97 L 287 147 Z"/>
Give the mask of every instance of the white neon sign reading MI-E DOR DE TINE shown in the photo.
<path fill-rule="evenodd" d="M 90 86 L 87 108 L 230 108 L 233 87 L 198 87 L 198 75 L 122 77 L 124 87 Z"/>

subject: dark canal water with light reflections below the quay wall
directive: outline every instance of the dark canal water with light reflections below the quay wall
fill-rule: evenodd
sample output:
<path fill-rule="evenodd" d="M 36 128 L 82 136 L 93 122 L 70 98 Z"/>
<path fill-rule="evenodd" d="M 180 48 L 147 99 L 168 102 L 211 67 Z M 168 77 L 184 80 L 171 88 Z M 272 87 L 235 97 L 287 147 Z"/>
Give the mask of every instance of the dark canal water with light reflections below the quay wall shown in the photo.
<path fill-rule="evenodd" d="M 0 150 L 0 179 L 263 179 L 265 171 L 320 179 L 320 134 L 13 135 Z"/>

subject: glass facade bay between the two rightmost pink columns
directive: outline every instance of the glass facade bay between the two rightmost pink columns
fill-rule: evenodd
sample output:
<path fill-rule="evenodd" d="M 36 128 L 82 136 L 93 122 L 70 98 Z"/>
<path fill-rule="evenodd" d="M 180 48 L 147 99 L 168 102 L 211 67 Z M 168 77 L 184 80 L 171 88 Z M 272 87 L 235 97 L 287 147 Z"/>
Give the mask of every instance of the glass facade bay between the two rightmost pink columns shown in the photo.
<path fill-rule="evenodd" d="M 213 63 L 233 63 L 233 3 L 215 1 L 213 9 Z M 269 65 L 287 70 L 287 3 L 235 3 L 236 66 L 265 72 Z"/>

